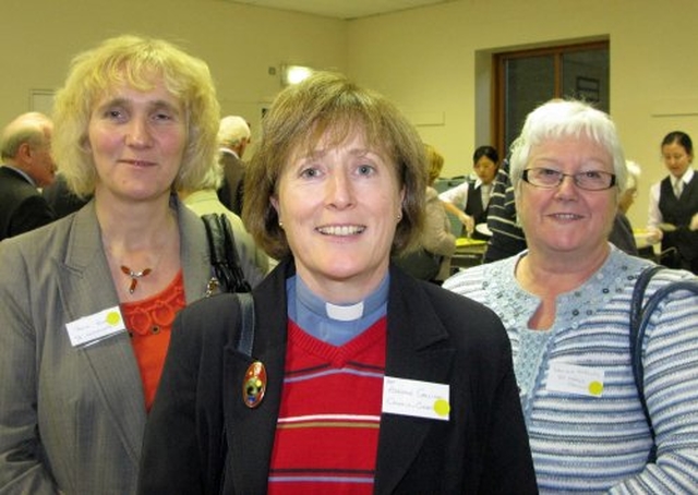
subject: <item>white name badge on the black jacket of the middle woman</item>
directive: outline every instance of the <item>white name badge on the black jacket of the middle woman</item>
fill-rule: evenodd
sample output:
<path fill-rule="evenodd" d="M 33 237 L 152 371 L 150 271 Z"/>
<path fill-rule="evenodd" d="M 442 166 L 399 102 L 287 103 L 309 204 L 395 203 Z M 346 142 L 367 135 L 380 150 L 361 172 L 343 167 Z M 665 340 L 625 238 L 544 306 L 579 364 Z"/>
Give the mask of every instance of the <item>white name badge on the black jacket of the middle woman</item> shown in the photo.
<path fill-rule="evenodd" d="M 383 412 L 448 421 L 448 400 L 447 384 L 390 376 L 383 378 Z"/>

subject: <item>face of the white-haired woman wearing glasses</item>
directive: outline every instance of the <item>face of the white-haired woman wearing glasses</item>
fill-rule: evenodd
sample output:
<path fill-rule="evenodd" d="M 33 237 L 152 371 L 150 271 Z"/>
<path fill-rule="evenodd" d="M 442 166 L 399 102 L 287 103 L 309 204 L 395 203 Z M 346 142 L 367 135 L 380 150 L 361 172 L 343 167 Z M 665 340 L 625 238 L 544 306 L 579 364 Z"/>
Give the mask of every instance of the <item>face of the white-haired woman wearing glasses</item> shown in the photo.
<path fill-rule="evenodd" d="M 544 167 L 573 174 L 585 171 L 613 173 L 613 159 L 587 137 L 543 141 L 531 148 L 527 168 Z M 554 189 L 520 181 L 516 208 L 531 254 L 550 259 L 591 259 L 605 256 L 617 208 L 617 190 L 585 191 L 570 177 Z"/>

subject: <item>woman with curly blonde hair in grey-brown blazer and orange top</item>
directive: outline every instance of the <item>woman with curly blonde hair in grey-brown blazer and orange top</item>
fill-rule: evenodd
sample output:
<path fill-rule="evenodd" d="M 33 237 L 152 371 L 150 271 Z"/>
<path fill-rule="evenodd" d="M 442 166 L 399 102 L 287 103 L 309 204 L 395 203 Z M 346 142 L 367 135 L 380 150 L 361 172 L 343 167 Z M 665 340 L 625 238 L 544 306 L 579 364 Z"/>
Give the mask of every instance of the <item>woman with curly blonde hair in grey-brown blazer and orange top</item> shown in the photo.
<path fill-rule="evenodd" d="M 159 39 L 77 55 L 52 140 L 74 215 L 0 243 L 0 493 L 129 495 L 177 312 L 204 297 L 207 65 Z M 170 432 L 171 434 L 172 432 Z"/>

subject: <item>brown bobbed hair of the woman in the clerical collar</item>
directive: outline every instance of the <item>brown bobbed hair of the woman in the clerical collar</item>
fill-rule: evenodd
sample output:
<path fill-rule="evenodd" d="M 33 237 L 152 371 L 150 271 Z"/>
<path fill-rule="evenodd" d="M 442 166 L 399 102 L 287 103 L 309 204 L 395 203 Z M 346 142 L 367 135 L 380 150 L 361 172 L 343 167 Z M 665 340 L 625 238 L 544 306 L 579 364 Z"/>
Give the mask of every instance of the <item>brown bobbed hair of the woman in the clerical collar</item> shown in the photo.
<path fill-rule="evenodd" d="M 270 256 L 280 259 L 291 254 L 270 202 L 289 161 L 298 153 L 311 152 L 323 137 L 329 146 L 339 146 L 357 131 L 395 166 L 398 186 L 405 190 L 393 254 L 417 244 L 426 188 L 424 145 L 417 130 L 382 95 L 341 74 L 317 72 L 276 97 L 262 120 L 261 141 L 245 172 L 242 219 Z"/>

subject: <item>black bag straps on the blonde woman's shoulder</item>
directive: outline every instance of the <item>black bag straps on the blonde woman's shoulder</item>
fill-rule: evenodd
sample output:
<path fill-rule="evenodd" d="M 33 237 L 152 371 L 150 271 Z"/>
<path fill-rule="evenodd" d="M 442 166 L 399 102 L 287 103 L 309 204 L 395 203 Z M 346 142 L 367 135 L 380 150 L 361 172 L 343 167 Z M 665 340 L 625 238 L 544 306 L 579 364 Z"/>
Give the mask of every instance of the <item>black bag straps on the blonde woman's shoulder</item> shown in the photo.
<path fill-rule="evenodd" d="M 240 268 L 232 227 L 225 214 L 202 217 L 206 227 L 208 251 L 214 275 L 224 292 L 250 292 L 250 283 Z"/>

